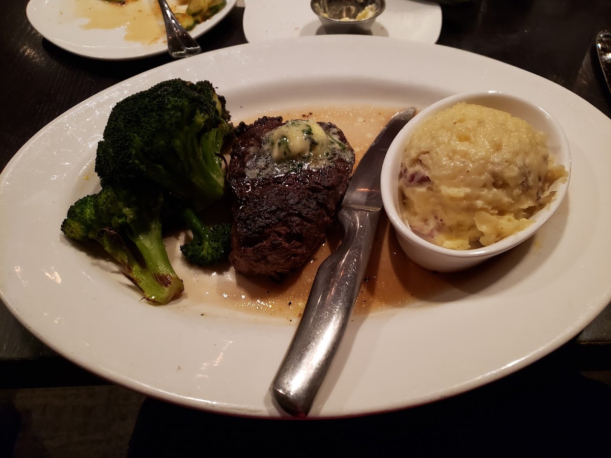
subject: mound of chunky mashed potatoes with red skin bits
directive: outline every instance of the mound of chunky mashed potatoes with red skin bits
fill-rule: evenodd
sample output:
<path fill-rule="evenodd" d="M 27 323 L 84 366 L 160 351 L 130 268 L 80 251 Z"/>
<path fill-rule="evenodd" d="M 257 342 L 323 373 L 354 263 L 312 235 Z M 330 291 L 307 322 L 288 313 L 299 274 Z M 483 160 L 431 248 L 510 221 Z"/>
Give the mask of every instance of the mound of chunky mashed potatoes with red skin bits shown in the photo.
<path fill-rule="evenodd" d="M 547 135 L 508 113 L 459 103 L 425 120 L 406 145 L 404 218 L 437 245 L 490 245 L 530 224 L 566 176 Z"/>

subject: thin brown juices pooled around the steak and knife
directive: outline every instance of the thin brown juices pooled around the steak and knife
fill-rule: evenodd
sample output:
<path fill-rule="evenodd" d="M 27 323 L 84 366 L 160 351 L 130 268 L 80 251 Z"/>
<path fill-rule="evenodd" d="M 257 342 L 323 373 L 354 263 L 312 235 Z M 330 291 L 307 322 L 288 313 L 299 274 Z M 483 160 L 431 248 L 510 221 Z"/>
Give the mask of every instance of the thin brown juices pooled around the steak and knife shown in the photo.
<path fill-rule="evenodd" d="M 398 109 L 389 107 L 318 107 L 307 112 L 278 112 L 266 115 L 280 115 L 285 120 L 309 117 L 335 123 L 354 148 L 358 162 L 379 131 L 397 111 Z M 250 123 L 254 119 L 244 119 L 244 122 Z M 318 266 L 341 242 L 340 237 L 341 233 L 337 228 L 331 230 L 327 240 L 309 263 L 301 271 L 287 275 L 280 284 L 267 278 L 236 275 L 233 269 L 227 266 L 225 271 L 200 271 L 195 278 L 187 278 L 185 275 L 185 291 L 191 298 L 200 296 L 206 302 L 211 301 L 232 310 L 274 314 L 287 319 L 299 317 Z M 392 225 L 386 215 L 382 214 L 355 313 L 404 307 L 449 287 L 441 276 L 422 269 L 404 255 Z"/>

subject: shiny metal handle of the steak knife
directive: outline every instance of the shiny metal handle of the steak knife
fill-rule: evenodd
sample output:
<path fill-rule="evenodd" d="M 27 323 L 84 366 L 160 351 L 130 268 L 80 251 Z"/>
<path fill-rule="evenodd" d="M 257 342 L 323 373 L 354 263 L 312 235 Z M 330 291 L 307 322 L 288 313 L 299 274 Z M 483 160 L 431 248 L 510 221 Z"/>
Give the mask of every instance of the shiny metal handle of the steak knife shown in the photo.
<path fill-rule="evenodd" d="M 378 211 L 342 206 L 342 244 L 318 267 L 299 325 L 272 384 L 282 409 L 310 411 L 353 311 L 378 225 Z"/>

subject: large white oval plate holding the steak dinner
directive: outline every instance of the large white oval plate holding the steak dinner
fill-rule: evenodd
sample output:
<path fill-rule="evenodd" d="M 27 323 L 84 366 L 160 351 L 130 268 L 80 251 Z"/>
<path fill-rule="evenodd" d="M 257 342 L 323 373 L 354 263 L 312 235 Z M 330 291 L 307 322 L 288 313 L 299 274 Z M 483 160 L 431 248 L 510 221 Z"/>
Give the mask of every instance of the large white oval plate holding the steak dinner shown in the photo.
<path fill-rule="evenodd" d="M 318 64 L 302 65 L 305 55 Z M 249 44 L 104 90 L 43 128 L 0 175 L 2 299 L 44 343 L 93 373 L 199 409 L 280 415 L 268 393 L 295 331 L 286 319 L 240 315 L 189 290 L 153 307 L 114 265 L 59 231 L 68 206 L 97 186 L 83 176 L 93 173 L 114 103 L 176 77 L 212 81 L 236 120 L 323 100 L 425 107 L 458 92 L 497 90 L 540 104 L 566 131 L 569 192 L 533 241 L 447 277 L 455 287 L 436 297 L 354 316 L 312 416 L 400 409 L 483 385 L 556 349 L 609 304 L 611 120 L 586 101 L 524 70 L 444 46 L 328 36 Z M 191 269 L 175 267 L 194 282 Z"/>

